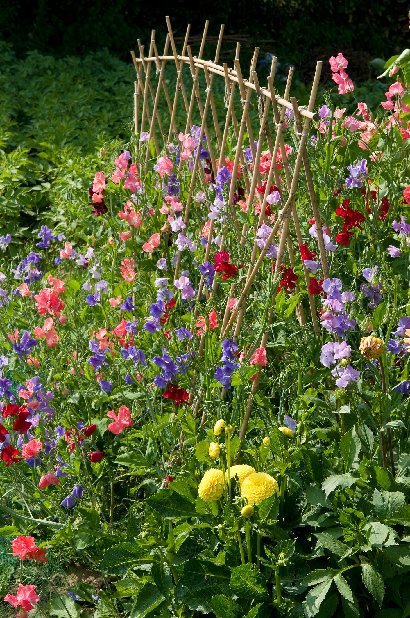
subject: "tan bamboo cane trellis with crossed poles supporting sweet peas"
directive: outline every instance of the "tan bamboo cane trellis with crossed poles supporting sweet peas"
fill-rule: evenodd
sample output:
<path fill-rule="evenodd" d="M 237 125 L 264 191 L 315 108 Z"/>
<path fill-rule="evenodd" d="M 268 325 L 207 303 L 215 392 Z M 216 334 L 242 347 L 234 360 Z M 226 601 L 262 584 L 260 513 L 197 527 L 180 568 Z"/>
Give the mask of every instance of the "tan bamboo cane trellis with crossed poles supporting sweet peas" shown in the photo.
<path fill-rule="evenodd" d="M 226 63 L 220 65 L 219 56 L 220 49 L 222 44 L 222 37 L 224 35 L 224 25 L 220 28 L 219 37 L 217 40 L 217 48 L 215 53 L 214 61 L 206 61 L 203 59 L 204 46 L 206 43 L 206 36 L 208 32 L 209 22 L 205 23 L 204 32 L 201 37 L 201 45 L 199 49 L 198 56 L 193 56 L 191 47 L 189 43 L 189 35 L 190 35 L 190 26 L 186 29 L 185 39 L 183 41 L 182 54 L 177 54 L 177 49 L 175 46 L 174 35 L 172 33 L 172 28 L 170 24 L 169 17 L 166 18 L 167 21 L 167 38 L 165 41 L 164 55 L 159 56 L 155 43 L 155 31 L 153 30 L 151 33 L 151 41 L 149 44 L 149 54 L 148 56 L 144 56 L 144 46 L 141 45 L 140 40 L 138 40 L 138 49 L 140 51 L 140 57 L 136 57 L 135 53 L 132 51 L 132 59 L 134 62 L 134 66 L 136 69 L 136 82 L 135 82 L 135 103 L 134 103 L 134 130 L 136 135 L 141 135 L 146 129 L 146 121 L 149 124 L 148 131 L 148 144 L 146 147 L 145 153 L 145 161 L 146 166 L 148 166 L 148 161 L 150 157 L 149 153 L 149 143 L 151 140 L 153 141 L 154 148 L 156 150 L 157 155 L 159 155 L 160 151 L 164 148 L 165 151 L 167 149 L 167 144 L 172 139 L 174 135 L 175 140 L 177 140 L 178 145 L 181 145 L 181 142 L 178 138 L 179 132 L 187 133 L 191 127 L 193 127 L 193 112 L 195 109 L 195 103 L 198 108 L 199 115 L 201 117 L 201 125 L 199 127 L 199 141 L 198 147 L 196 149 L 196 156 L 193 161 L 193 169 L 191 173 L 190 179 L 190 188 L 188 192 L 188 198 L 186 200 L 185 205 L 185 214 L 184 214 L 184 223 L 185 225 L 188 223 L 189 214 L 190 214 L 190 206 L 193 200 L 194 190 L 196 187 L 196 180 L 198 174 L 201 176 L 201 179 L 204 182 L 204 174 L 203 167 L 200 165 L 200 155 L 201 155 L 201 144 L 203 143 L 203 137 L 205 136 L 207 141 L 207 149 L 209 150 L 209 155 L 211 159 L 212 169 L 216 176 L 217 171 L 224 166 L 225 164 L 225 149 L 227 146 L 227 137 L 230 126 L 232 124 L 233 128 L 233 139 L 236 142 L 235 150 L 235 159 L 233 161 L 232 166 L 232 179 L 230 183 L 229 195 L 227 200 L 227 206 L 225 208 L 225 213 L 229 213 L 232 216 L 233 225 L 236 228 L 236 236 L 238 242 L 240 243 L 240 247 L 243 249 L 245 247 L 246 241 L 250 242 L 253 247 L 251 258 L 249 260 L 249 268 L 248 273 L 244 276 L 241 281 L 233 282 L 230 293 L 227 296 L 227 304 L 225 308 L 225 313 L 222 318 L 222 323 L 220 323 L 220 337 L 221 339 L 225 339 L 230 335 L 230 331 L 235 323 L 235 328 L 233 331 L 232 339 L 234 342 L 237 341 L 238 336 L 240 335 L 241 323 L 243 321 L 243 316 L 246 310 L 246 301 L 249 295 L 249 290 L 253 286 L 254 279 L 259 271 L 259 268 L 264 260 L 266 252 L 270 245 L 272 244 L 276 235 L 279 235 L 279 242 L 277 248 L 277 258 L 275 262 L 275 281 L 278 281 L 280 278 L 280 270 L 283 260 L 283 255 L 285 250 L 287 249 L 288 258 L 290 261 L 290 265 L 295 265 L 295 255 L 293 250 L 293 245 L 291 242 L 290 235 L 290 221 L 292 219 L 293 226 L 295 228 L 296 239 L 298 241 L 298 247 L 303 244 L 303 237 L 301 234 L 301 227 L 299 224 L 298 213 L 296 211 L 295 206 L 295 197 L 296 190 L 298 187 L 298 179 L 299 172 L 303 166 L 304 174 L 306 178 L 307 189 L 309 192 L 309 198 L 311 201 L 312 213 L 314 216 L 314 221 L 316 223 L 317 230 L 317 240 L 319 244 L 319 253 L 320 253 L 320 261 L 322 263 L 322 272 L 324 277 L 328 277 L 328 262 L 327 262 L 327 253 L 325 249 L 324 237 L 322 232 L 322 225 L 320 222 L 319 209 L 317 206 L 316 195 L 314 192 L 314 185 L 312 182 L 311 168 L 309 164 L 309 158 L 306 150 L 307 137 L 309 132 L 309 125 L 311 121 L 319 121 L 319 114 L 314 112 L 314 105 L 316 102 L 317 88 L 319 86 L 319 78 L 320 72 L 322 69 L 322 62 L 317 62 L 316 72 L 314 75 L 314 80 L 311 87 L 311 94 L 309 97 L 309 104 L 307 106 L 299 106 L 297 99 L 293 96 L 290 98 L 290 90 L 291 90 L 291 82 L 293 78 L 293 67 L 290 67 L 287 83 L 285 87 L 285 94 L 283 98 L 275 93 L 274 90 L 274 77 L 275 77 L 275 69 L 277 65 L 277 58 L 272 58 L 272 65 L 270 67 L 270 74 L 267 78 L 267 85 L 262 86 L 259 83 L 256 73 L 256 64 L 257 64 L 257 56 L 259 53 L 259 48 L 255 48 L 253 58 L 251 61 L 251 66 L 249 69 L 249 77 L 248 79 L 243 77 L 240 66 L 240 44 L 236 44 L 236 54 L 235 54 L 235 69 L 232 69 L 227 66 Z M 167 55 L 169 46 L 172 49 L 172 56 Z M 187 54 L 187 55 L 186 55 Z M 175 69 L 177 71 L 177 80 L 175 85 L 175 94 L 173 101 L 170 100 L 169 92 L 167 90 L 167 86 L 164 79 L 164 69 L 165 64 L 167 62 L 174 62 Z M 153 86 L 151 84 L 151 67 L 155 65 L 157 74 L 159 74 L 158 82 L 157 82 L 157 90 L 154 94 Z M 186 94 L 185 83 L 183 80 L 184 68 L 188 67 L 190 70 L 191 78 L 192 78 L 192 86 L 190 96 Z M 199 90 L 199 74 L 203 72 L 204 78 L 206 80 L 206 97 L 205 101 L 201 100 L 201 93 Z M 144 72 L 144 81 L 143 81 L 143 72 Z M 188 75 L 188 74 L 187 74 Z M 215 78 L 223 78 L 224 80 L 224 88 L 225 88 L 225 108 L 226 116 L 224 120 L 224 130 L 221 132 L 219 117 L 217 114 L 217 107 L 215 105 L 213 86 Z M 234 106 L 234 96 L 235 90 L 238 87 L 240 93 L 240 102 L 242 106 L 242 114 L 240 122 L 236 118 L 236 111 Z M 181 91 L 183 106 L 185 107 L 186 112 L 186 122 L 185 126 L 178 127 L 177 126 L 177 109 L 178 109 L 178 96 Z M 170 114 L 170 123 L 169 127 L 165 130 L 164 125 L 161 122 L 161 118 L 159 115 L 159 99 L 161 96 L 161 92 L 164 92 L 164 96 L 167 101 L 167 108 L 169 109 Z M 251 125 L 251 117 L 249 115 L 250 106 L 253 105 L 251 98 L 256 96 L 255 104 L 257 104 L 257 109 L 259 112 L 259 135 L 257 140 L 257 147 L 254 145 L 253 138 L 253 129 Z M 142 111 L 141 108 L 141 97 L 142 97 Z M 290 100 L 288 100 L 290 98 Z M 181 108 L 181 105 L 180 105 Z M 179 108 L 179 109 L 180 109 Z M 151 111 L 152 109 L 152 111 Z M 211 109 L 211 125 L 212 130 L 209 130 L 209 109 Z M 288 167 L 287 156 L 285 154 L 285 143 L 283 140 L 283 127 L 284 123 L 290 121 L 287 117 L 285 117 L 285 113 L 287 110 L 293 112 L 294 118 L 294 130 L 297 136 L 297 142 L 299 144 L 295 165 L 293 167 L 293 171 L 291 171 Z M 270 127 L 275 127 L 275 138 L 272 138 L 272 133 Z M 215 136 L 215 139 L 212 140 L 212 135 Z M 253 160 L 253 169 L 251 164 L 248 162 L 245 156 L 245 133 L 248 134 L 249 146 L 251 148 L 252 160 Z M 232 208 L 233 201 L 235 197 L 236 191 L 236 175 L 239 171 L 243 172 L 244 183 L 246 188 L 246 193 L 248 195 L 246 212 L 248 212 L 249 208 L 251 208 L 254 204 L 256 187 L 261 185 L 261 173 L 259 172 L 259 164 L 261 161 L 262 150 L 264 148 L 264 143 L 267 143 L 267 147 L 269 149 L 271 164 L 270 169 L 267 175 L 266 188 L 264 193 L 257 192 L 256 199 L 259 202 L 259 219 L 257 221 L 257 226 L 251 229 L 248 229 L 247 224 L 243 224 L 242 229 L 240 229 L 238 225 L 238 221 L 236 220 L 235 209 Z M 141 142 L 140 142 L 141 143 Z M 160 144 L 163 143 L 163 146 L 160 147 Z M 219 158 L 215 157 L 214 148 L 217 148 L 219 152 Z M 276 166 L 276 160 L 278 152 L 280 151 L 280 159 L 282 161 L 282 169 L 283 174 L 285 176 L 285 182 L 282 185 L 282 201 L 284 201 L 284 205 L 282 209 L 278 211 L 275 224 L 272 227 L 272 231 L 270 232 L 269 238 L 267 239 L 264 248 L 259 248 L 257 244 L 256 231 L 259 226 L 261 226 L 266 218 L 266 208 L 268 205 L 267 197 L 270 193 L 270 185 L 272 181 L 275 182 L 277 187 L 280 187 L 280 178 Z M 147 167 L 148 169 L 148 167 Z M 182 169 L 182 161 L 180 163 L 180 167 L 178 172 L 181 172 Z M 286 197 L 286 199 L 285 199 Z M 185 228 L 186 229 L 186 228 Z M 206 244 L 206 252 L 204 260 L 208 260 L 209 252 L 211 249 L 211 240 L 212 234 L 214 232 L 214 219 L 211 219 L 209 222 L 209 233 L 207 235 L 207 244 Z M 185 230 L 182 231 L 182 234 L 185 234 Z M 220 250 L 224 248 L 225 236 L 222 235 L 222 242 L 220 246 Z M 181 251 L 178 251 L 177 254 L 177 262 L 175 265 L 174 279 L 178 278 L 180 261 L 181 261 Z M 302 261 L 303 263 L 303 261 Z M 309 287 L 309 274 L 306 267 L 303 265 L 303 274 L 304 281 L 306 283 L 306 287 Z M 274 281 L 274 282 L 275 282 Z M 213 289 L 215 290 L 216 281 L 214 281 Z M 204 288 L 204 276 L 201 276 L 201 280 L 199 282 L 199 290 L 197 300 L 198 302 L 201 300 Z M 230 310 L 228 305 L 229 301 L 235 297 L 235 292 L 238 290 L 239 297 L 233 308 Z M 299 282 L 296 282 L 295 287 L 296 294 L 299 292 Z M 266 327 L 269 327 L 273 313 L 274 313 L 274 304 L 275 304 L 275 295 L 272 295 L 270 299 L 269 312 L 267 316 Z M 319 326 L 317 321 L 317 313 L 314 303 L 314 298 L 312 295 L 307 292 L 307 298 L 309 300 L 309 310 L 311 312 L 311 323 L 316 334 L 319 333 Z M 195 317 L 198 316 L 198 302 L 196 303 L 195 308 Z M 299 324 L 301 326 L 306 326 L 306 316 L 304 315 L 304 309 L 301 300 L 298 302 L 298 306 L 296 308 L 296 316 L 298 318 Z M 193 330 L 193 329 L 192 329 Z M 267 328 L 262 333 L 261 338 L 261 346 L 265 347 L 268 339 L 268 330 Z M 198 357 L 201 357 L 204 350 L 205 344 L 205 336 L 202 334 L 201 341 L 199 343 Z M 254 379 L 253 386 L 251 388 L 251 393 L 249 394 L 248 404 L 246 407 L 246 413 L 243 418 L 243 423 L 240 431 L 240 438 L 243 438 L 246 433 L 246 428 L 248 425 L 248 420 L 251 414 L 251 408 L 253 405 L 254 394 L 256 393 L 257 386 L 259 384 L 260 372 L 257 374 L 256 379 Z M 194 415 L 198 413 L 199 408 L 201 407 L 201 392 L 195 391 L 196 388 L 196 380 L 197 374 L 195 371 L 195 375 L 193 376 L 193 384 L 191 387 L 190 400 L 189 404 L 195 404 L 194 406 Z M 196 402 L 195 399 L 196 393 Z M 222 389 L 222 397 L 224 397 L 225 390 Z M 203 416 L 201 423 L 206 422 L 206 411 L 203 411 Z"/>

